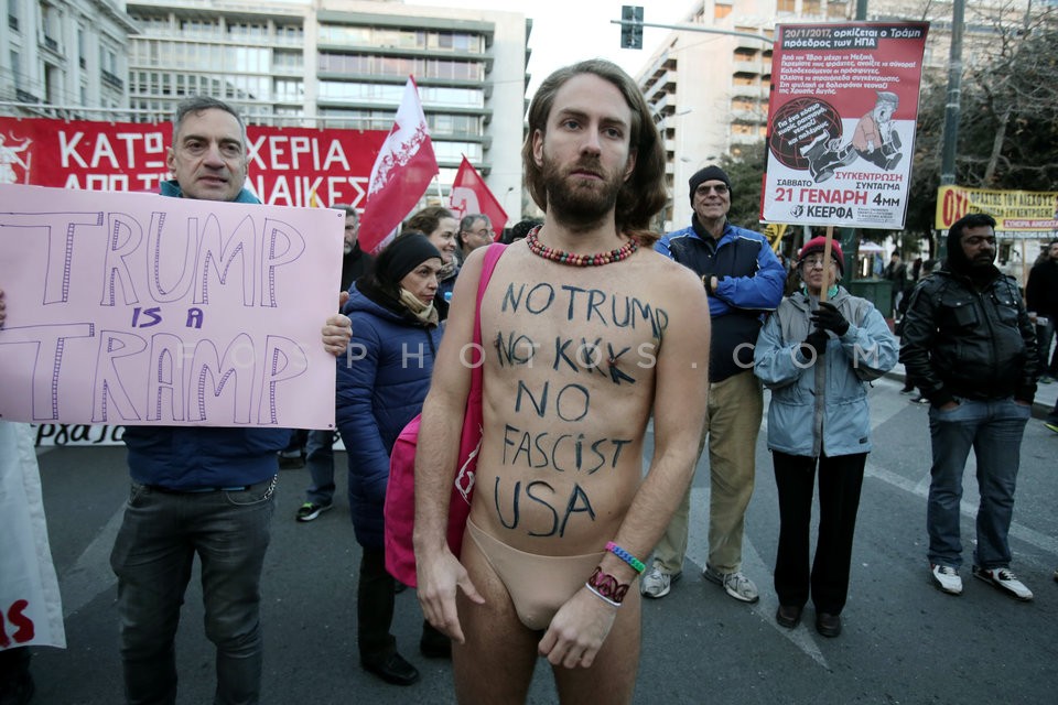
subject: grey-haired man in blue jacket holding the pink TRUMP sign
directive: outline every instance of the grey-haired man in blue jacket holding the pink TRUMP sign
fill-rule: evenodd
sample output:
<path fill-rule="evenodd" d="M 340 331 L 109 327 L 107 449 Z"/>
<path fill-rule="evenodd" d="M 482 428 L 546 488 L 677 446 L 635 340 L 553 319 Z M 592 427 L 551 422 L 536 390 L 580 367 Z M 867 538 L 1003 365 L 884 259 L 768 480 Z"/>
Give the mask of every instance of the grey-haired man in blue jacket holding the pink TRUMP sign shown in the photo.
<path fill-rule="evenodd" d="M 163 196 L 260 203 L 244 188 L 246 124 L 206 97 L 176 107 Z M 333 314 L 324 348 L 341 355 L 349 319 Z M 141 426 L 125 432 L 132 489 L 110 566 L 118 576 L 129 703 L 175 703 L 174 638 L 197 554 L 206 636 L 216 646 L 215 703 L 260 702 L 260 582 L 287 429 Z"/>

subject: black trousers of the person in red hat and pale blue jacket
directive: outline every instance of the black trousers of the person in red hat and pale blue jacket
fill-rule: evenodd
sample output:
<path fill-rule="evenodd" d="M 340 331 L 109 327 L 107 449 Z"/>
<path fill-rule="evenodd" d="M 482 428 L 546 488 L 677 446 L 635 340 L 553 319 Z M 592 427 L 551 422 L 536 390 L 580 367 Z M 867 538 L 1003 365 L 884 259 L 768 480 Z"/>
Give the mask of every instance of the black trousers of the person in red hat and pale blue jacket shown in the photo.
<path fill-rule="evenodd" d="M 816 458 L 774 451 L 779 491 L 779 549 L 775 592 L 780 605 L 803 606 L 811 595 L 817 611 L 840 615 L 849 595 L 852 538 L 856 531 L 866 453 L 819 458 L 819 536 L 809 573 L 809 536 Z"/>

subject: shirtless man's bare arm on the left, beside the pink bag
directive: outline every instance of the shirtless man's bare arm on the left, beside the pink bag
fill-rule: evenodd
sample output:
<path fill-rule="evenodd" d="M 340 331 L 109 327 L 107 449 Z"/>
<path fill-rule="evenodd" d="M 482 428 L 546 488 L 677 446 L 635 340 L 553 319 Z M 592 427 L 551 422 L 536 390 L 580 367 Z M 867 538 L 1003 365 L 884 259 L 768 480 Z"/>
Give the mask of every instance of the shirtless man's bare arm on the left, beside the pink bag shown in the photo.
<path fill-rule="evenodd" d="M 471 344 L 485 248 L 471 253 L 455 282 L 444 336 L 422 405 L 415 451 L 415 573 L 419 603 L 431 625 L 463 643 L 455 590 L 484 601 L 449 550 L 449 499 L 455 479 L 463 416 L 471 388 Z"/>

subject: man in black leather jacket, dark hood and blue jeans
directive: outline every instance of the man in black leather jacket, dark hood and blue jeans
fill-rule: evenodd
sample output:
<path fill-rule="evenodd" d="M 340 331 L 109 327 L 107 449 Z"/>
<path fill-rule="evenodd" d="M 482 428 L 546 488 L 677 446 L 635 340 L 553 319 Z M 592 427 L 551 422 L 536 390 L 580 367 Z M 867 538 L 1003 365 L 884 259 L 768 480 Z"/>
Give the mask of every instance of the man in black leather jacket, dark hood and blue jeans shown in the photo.
<path fill-rule="evenodd" d="M 985 214 L 952 224 L 947 261 L 911 294 L 900 361 L 930 402 L 926 525 L 933 581 L 944 593 L 962 593 L 959 508 L 972 447 L 981 495 L 973 575 L 1030 600 L 1032 590 L 1010 570 L 1007 534 L 1022 435 L 1036 394 L 1036 332 L 1017 282 L 993 264 L 994 228 Z"/>

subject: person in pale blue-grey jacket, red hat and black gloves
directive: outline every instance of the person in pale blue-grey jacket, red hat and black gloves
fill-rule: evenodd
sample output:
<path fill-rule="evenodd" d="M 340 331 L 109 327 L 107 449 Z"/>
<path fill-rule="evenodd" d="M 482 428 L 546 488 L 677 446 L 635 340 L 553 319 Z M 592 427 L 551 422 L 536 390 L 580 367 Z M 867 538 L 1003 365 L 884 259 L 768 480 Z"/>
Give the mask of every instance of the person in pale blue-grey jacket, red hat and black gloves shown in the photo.
<path fill-rule="evenodd" d="M 843 258 L 824 238 L 801 248 L 802 290 L 779 304 L 754 349 L 754 371 L 771 390 L 768 448 L 779 492 L 775 619 L 792 629 L 809 597 L 816 630 L 841 633 L 863 470 L 871 452 L 867 382 L 896 365 L 897 341 L 882 314 L 838 284 Z M 823 286 L 827 301 L 820 301 Z M 809 570 L 812 494 L 819 466 L 819 535 Z"/>

